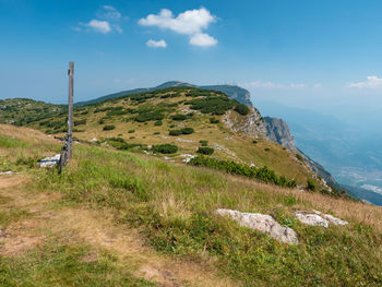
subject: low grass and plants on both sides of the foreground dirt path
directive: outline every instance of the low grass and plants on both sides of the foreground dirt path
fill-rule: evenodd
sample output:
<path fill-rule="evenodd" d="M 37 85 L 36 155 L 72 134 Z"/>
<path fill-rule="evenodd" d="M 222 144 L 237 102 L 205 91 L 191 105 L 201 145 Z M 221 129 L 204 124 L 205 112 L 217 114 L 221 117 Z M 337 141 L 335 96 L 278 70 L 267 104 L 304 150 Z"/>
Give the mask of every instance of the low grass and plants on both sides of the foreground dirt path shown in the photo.
<path fill-rule="evenodd" d="M 0 157 L 0 167 L 31 177 L 31 183 L 25 186 L 28 194 L 60 194 L 57 206 L 88 206 L 99 216 L 111 211 L 115 224 L 124 232 L 140 231 L 152 249 L 151 256 L 160 252 L 162 256 L 168 254 L 178 262 L 192 262 L 205 272 L 216 271 L 234 280 L 235 284 L 226 286 L 382 285 L 379 207 L 261 183 L 264 179 L 272 182 L 274 178 L 266 168 L 253 169 L 210 157 L 198 157 L 195 160 L 202 164 L 196 167 L 174 165 L 96 145 L 75 145 L 73 159 L 58 176 L 55 170 L 31 168 L 19 159 L 33 162 L 57 153 L 61 143 L 41 134 L 34 134 L 32 140 L 31 133 L 25 132 L 5 131 L 2 135 L 28 144 L 2 148 Z M 110 141 L 122 143 L 118 137 Z M 208 164 L 203 164 L 205 160 Z M 259 179 L 246 174 L 259 175 Z M 1 198 L 0 204 L 4 201 Z M 279 243 L 217 216 L 216 208 L 270 214 L 282 225 L 294 228 L 300 243 Z M 349 225 L 312 227 L 294 216 L 296 210 L 312 208 L 338 216 Z M 130 266 L 139 264 L 134 256 L 116 259 L 100 252 L 87 260 L 91 247 L 71 241 L 72 236 L 72 232 L 60 234 L 58 238 L 62 241 L 41 238 L 39 248 L 21 252 L 17 258 L 2 255 L 0 283 L 4 286 L 151 286 L 130 271 Z M 123 264 L 121 259 L 126 260 Z M 184 285 L 198 286 L 187 282 Z"/>

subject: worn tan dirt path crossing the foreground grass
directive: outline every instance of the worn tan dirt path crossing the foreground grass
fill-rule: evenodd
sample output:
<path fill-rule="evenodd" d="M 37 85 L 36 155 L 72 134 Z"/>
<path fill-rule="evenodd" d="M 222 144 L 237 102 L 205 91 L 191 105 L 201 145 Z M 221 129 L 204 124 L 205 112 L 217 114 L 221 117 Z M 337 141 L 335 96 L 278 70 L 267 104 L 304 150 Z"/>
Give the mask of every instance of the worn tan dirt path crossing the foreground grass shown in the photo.
<path fill-rule="evenodd" d="M 136 276 L 158 286 L 238 286 L 218 277 L 212 267 L 155 252 L 143 243 L 136 230 L 116 225 L 108 211 L 62 207 L 58 204 L 58 193 L 28 191 L 31 180 L 23 175 L 0 176 L 0 208 L 25 214 L 25 218 L 22 216 L 4 228 L 5 236 L 0 235 L 0 256 L 20 256 L 53 235 L 62 240 L 83 240 L 94 250 L 112 252 L 121 264 L 133 266 Z M 96 253 L 86 260 L 96 260 Z"/>

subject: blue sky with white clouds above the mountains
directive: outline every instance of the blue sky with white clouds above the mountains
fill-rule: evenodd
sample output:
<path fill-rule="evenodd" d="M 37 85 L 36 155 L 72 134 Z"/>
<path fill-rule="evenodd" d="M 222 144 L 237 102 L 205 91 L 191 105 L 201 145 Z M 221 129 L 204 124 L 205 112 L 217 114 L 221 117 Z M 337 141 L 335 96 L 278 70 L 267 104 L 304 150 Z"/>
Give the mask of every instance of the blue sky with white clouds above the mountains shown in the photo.
<path fill-rule="evenodd" d="M 380 0 L 0 0 L 0 99 L 75 100 L 166 81 L 382 121 Z"/>

